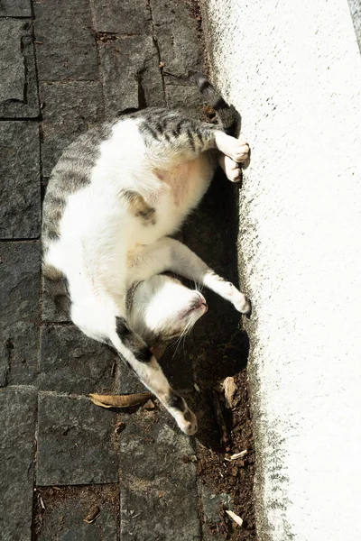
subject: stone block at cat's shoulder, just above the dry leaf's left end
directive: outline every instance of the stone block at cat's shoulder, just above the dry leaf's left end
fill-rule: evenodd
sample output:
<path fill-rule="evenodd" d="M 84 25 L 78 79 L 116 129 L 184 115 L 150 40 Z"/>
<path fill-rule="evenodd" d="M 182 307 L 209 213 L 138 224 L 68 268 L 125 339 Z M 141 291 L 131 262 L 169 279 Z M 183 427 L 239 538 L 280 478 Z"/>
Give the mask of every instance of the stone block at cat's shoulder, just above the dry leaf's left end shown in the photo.
<path fill-rule="evenodd" d="M 117 355 L 76 326 L 42 326 L 39 389 L 111 393 Z"/>

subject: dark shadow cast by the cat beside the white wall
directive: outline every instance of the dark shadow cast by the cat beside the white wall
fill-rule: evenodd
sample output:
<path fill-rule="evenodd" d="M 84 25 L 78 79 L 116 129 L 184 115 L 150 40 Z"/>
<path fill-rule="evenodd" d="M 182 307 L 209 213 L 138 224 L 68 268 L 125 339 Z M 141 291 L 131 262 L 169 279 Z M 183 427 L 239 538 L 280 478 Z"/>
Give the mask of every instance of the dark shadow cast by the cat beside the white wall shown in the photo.
<path fill-rule="evenodd" d="M 183 242 L 236 287 L 239 187 L 218 170 L 201 205 L 182 230 Z M 194 284 L 188 285 L 194 288 Z M 245 369 L 249 340 L 242 329 L 241 314 L 208 289 L 203 294 L 208 301 L 208 313 L 199 319 L 184 344 L 169 348 L 161 363 L 171 384 L 181 390 L 198 417 L 199 443 L 220 452 L 224 451 L 225 429 L 220 426 L 218 411 L 219 406 L 222 408 L 220 384 L 227 376 Z M 220 417 L 227 425 L 227 415 Z M 226 428 L 229 430 L 230 426 Z"/>

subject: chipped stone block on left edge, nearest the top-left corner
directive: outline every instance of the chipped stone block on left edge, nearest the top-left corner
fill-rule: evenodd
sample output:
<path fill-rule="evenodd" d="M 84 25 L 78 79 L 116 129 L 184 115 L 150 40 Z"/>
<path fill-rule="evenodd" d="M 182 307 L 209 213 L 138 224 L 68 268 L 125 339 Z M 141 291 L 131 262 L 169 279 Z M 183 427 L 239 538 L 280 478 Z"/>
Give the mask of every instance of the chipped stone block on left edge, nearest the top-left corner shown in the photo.
<path fill-rule="evenodd" d="M 0 19 L 0 48 L 0 116 L 38 116 L 39 102 L 30 21 Z"/>

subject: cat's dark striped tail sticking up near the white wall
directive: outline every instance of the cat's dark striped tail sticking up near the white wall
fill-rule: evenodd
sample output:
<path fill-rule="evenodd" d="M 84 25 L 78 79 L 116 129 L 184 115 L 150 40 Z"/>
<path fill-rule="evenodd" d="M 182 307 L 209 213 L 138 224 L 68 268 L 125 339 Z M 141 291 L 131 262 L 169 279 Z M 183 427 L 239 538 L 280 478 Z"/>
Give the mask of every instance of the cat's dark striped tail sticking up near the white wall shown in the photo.
<path fill-rule="evenodd" d="M 196 74 L 194 79 L 199 87 L 200 93 L 205 96 L 208 104 L 216 111 L 218 121 L 228 135 L 237 137 L 239 134 L 241 117 L 233 105 L 228 105 L 226 100 L 219 94 L 207 78 Z"/>

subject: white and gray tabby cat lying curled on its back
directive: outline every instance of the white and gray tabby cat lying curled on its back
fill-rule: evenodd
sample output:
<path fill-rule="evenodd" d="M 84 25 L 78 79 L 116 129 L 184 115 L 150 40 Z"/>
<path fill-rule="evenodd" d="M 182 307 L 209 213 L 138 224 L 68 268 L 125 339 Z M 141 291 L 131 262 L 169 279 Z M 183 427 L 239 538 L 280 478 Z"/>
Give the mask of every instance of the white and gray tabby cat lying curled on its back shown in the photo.
<path fill-rule="evenodd" d="M 43 207 L 46 288 L 86 335 L 111 344 L 188 435 L 197 419 L 150 347 L 179 336 L 207 311 L 195 280 L 249 314 L 248 298 L 171 239 L 206 192 L 217 161 L 235 181 L 249 147 L 227 133 L 236 111 L 205 78 L 218 125 L 146 109 L 89 130 L 62 154 Z M 227 133 L 226 133 L 227 132 Z"/>

